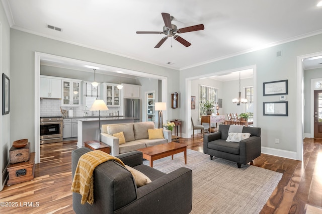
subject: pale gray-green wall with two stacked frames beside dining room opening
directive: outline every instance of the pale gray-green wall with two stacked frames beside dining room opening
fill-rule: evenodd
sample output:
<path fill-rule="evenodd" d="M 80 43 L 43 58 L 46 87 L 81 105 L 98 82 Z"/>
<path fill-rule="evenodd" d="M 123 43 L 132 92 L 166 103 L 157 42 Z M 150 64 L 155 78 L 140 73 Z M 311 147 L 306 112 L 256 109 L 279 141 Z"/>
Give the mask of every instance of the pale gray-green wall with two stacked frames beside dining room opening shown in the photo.
<path fill-rule="evenodd" d="M 262 146 L 272 154 L 281 151 L 284 156 L 296 155 L 296 57 L 322 50 L 322 35 L 277 45 L 271 48 L 214 61 L 208 64 L 180 71 L 180 91 L 186 99 L 186 79 L 226 70 L 257 65 L 257 126 L 262 128 Z M 276 52 L 283 50 L 283 55 L 276 57 Z M 288 117 L 263 116 L 264 101 L 278 101 L 279 96 L 263 96 L 263 82 L 288 79 Z M 183 104 L 186 104 L 182 102 Z M 184 108 L 185 109 L 185 108 Z M 180 113 L 187 115 L 186 111 Z M 279 144 L 275 139 L 279 139 Z"/>

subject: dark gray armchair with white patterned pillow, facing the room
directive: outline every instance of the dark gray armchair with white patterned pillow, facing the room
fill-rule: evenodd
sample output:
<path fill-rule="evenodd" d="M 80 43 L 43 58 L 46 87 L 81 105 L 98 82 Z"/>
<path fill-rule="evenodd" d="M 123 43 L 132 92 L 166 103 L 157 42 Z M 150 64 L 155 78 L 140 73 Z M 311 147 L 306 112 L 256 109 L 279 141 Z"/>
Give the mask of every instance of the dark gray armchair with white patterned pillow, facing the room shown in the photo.
<path fill-rule="evenodd" d="M 230 125 L 219 125 L 218 132 L 204 135 L 203 152 L 212 157 L 223 158 L 241 164 L 247 164 L 261 155 L 261 128 L 243 127 L 243 133 L 251 133 L 251 137 L 239 143 L 226 142 Z"/>

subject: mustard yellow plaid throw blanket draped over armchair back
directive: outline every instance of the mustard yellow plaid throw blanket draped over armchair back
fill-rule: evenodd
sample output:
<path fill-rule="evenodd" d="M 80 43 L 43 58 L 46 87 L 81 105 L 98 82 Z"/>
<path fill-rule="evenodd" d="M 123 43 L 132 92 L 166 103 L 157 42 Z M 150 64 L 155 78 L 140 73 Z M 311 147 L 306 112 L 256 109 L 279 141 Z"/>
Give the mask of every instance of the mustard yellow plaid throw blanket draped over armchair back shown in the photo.
<path fill-rule="evenodd" d="M 125 166 L 119 158 L 116 158 L 100 150 L 88 152 L 82 155 L 81 158 L 79 158 L 75 175 L 71 184 L 71 191 L 82 195 L 82 204 L 84 204 L 86 201 L 90 204 L 93 204 L 93 171 L 95 167 L 108 160 L 115 160 Z"/>

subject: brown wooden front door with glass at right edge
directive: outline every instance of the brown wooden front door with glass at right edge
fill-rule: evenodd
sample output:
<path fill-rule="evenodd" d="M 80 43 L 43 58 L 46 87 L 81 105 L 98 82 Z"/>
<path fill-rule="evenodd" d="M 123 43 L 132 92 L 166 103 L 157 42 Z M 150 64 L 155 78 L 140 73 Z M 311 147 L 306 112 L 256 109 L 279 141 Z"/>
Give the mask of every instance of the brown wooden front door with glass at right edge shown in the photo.
<path fill-rule="evenodd" d="M 314 90 L 314 138 L 322 138 L 322 90 Z"/>

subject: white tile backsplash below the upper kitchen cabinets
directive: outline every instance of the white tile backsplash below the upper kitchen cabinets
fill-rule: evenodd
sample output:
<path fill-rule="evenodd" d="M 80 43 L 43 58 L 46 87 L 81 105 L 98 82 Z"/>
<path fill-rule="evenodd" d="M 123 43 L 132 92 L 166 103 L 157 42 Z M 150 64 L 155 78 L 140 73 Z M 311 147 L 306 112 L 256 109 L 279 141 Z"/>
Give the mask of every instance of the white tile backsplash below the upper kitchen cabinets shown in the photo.
<path fill-rule="evenodd" d="M 40 117 L 61 117 L 60 106 L 60 99 L 40 99 Z M 84 111 L 83 106 L 62 106 L 61 109 L 66 111 L 73 110 L 73 115 L 68 115 L 68 117 L 83 117 L 86 112 L 88 116 L 99 116 L 99 111 Z M 101 111 L 101 117 L 109 116 L 110 113 L 113 113 L 115 116 L 117 111 L 119 111 L 119 108 L 109 107 L 108 111 Z"/>

